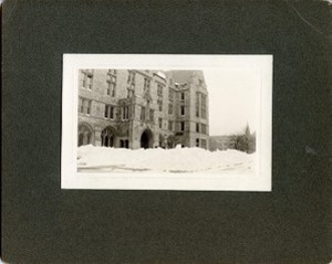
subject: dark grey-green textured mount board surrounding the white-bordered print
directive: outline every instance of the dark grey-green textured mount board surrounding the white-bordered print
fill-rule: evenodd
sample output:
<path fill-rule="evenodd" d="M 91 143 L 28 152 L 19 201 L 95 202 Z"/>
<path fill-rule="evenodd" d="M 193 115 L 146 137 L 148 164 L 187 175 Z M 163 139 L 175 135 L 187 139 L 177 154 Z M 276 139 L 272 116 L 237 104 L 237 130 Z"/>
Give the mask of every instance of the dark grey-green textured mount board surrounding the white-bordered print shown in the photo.
<path fill-rule="evenodd" d="M 330 20 L 319 1 L 4 1 L 2 260 L 329 263 Z M 63 53 L 273 54 L 272 192 L 61 190 Z"/>

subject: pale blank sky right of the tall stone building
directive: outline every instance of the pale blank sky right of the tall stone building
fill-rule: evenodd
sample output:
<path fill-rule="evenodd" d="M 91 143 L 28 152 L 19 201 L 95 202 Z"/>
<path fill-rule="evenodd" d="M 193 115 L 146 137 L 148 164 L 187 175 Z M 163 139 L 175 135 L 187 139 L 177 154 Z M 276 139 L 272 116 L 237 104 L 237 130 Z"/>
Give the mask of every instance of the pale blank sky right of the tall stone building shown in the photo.
<path fill-rule="evenodd" d="M 246 68 L 204 70 L 209 93 L 210 136 L 256 130 L 257 76 Z"/>

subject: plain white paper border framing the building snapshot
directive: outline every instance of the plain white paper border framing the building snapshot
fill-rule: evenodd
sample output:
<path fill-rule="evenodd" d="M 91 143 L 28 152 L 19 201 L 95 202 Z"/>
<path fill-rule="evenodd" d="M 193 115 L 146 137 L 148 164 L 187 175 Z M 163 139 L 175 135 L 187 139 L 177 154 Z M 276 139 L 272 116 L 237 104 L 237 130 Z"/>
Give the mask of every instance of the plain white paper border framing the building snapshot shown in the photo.
<path fill-rule="evenodd" d="M 93 190 L 272 191 L 272 63 L 268 55 L 63 54 L 61 188 Z M 240 67 L 259 82 L 256 175 L 77 172 L 80 68 L 212 70 Z"/>

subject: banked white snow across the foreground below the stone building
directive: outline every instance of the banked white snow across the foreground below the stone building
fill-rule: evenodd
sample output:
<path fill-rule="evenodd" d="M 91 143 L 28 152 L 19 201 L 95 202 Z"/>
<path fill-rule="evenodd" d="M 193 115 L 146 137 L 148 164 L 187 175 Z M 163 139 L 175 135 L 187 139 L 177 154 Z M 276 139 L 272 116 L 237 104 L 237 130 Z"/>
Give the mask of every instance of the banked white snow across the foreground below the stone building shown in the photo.
<path fill-rule="evenodd" d="M 209 151 L 201 148 L 124 149 L 82 146 L 79 172 L 204 172 L 252 173 L 255 154 L 238 150 Z"/>

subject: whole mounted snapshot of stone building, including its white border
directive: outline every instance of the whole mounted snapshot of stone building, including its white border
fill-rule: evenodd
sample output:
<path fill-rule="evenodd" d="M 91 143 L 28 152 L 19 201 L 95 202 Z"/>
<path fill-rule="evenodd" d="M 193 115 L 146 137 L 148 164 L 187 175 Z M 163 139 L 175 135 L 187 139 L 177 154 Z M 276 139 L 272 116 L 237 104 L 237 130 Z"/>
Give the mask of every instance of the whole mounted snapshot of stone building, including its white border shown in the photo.
<path fill-rule="evenodd" d="M 271 190 L 271 56 L 68 54 L 63 74 L 62 188 Z"/>

